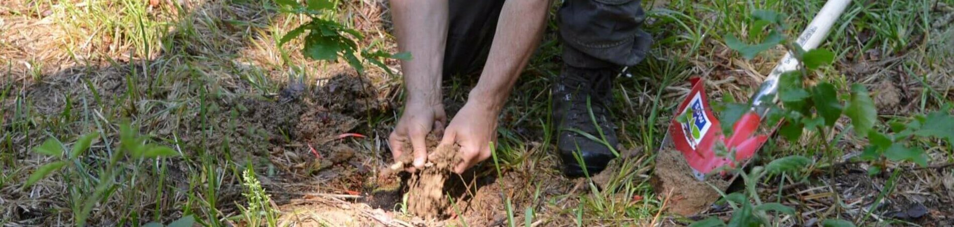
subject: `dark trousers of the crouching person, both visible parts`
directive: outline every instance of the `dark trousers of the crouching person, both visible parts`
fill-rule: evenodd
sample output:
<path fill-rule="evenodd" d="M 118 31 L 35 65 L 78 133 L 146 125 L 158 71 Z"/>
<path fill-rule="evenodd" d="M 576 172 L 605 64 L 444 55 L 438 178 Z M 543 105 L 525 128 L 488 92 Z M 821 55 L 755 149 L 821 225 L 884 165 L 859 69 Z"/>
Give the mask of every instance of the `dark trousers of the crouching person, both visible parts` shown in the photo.
<path fill-rule="evenodd" d="M 640 0 L 566 0 L 557 14 L 564 62 L 576 68 L 633 66 L 653 43 L 642 31 Z M 497 29 L 504 0 L 449 0 L 444 74 L 478 72 Z"/>

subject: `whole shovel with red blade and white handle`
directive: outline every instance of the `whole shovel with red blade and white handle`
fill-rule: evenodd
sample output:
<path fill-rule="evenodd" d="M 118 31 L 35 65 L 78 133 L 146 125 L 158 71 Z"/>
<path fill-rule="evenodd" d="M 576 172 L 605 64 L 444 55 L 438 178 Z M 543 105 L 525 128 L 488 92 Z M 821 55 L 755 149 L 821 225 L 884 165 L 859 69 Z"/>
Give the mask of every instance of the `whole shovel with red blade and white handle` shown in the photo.
<path fill-rule="evenodd" d="M 848 6 L 850 0 L 830 0 L 825 3 L 819 13 L 812 19 L 805 31 L 798 35 L 796 43 L 803 50 L 808 51 L 819 46 L 824 37 L 831 30 L 841 12 Z M 664 149 L 674 149 L 681 153 L 692 169 L 692 175 L 699 181 L 704 181 L 716 170 L 724 167 L 735 168 L 735 163 L 748 163 L 756 151 L 765 143 L 770 134 L 775 133 L 777 127 L 771 126 L 764 133 L 757 133 L 761 121 L 768 114 L 769 108 L 778 102 L 778 77 L 784 72 L 798 70 L 799 64 L 791 52 L 785 54 L 775 69 L 759 86 L 756 93 L 749 99 L 749 111 L 742 114 L 732 127 L 733 134 L 726 137 L 722 128 L 712 113 L 709 101 L 703 89 L 702 78 L 692 78 L 692 90 L 676 109 L 675 115 L 685 114 L 687 120 L 670 121 L 669 130 L 663 139 L 660 152 Z M 729 155 L 716 155 L 718 144 L 724 144 L 726 151 L 733 151 Z M 673 168 L 670 166 L 656 166 L 656 170 Z M 725 176 L 725 175 L 722 175 Z M 734 180 L 736 175 L 731 175 Z M 698 190 L 698 189 L 689 189 Z M 702 189 L 704 190 L 704 189 Z M 724 188 L 721 190 L 725 190 Z M 710 198 L 702 198 L 710 199 Z M 715 200 L 716 198 L 711 198 Z M 699 211 L 695 211 L 697 213 Z"/>

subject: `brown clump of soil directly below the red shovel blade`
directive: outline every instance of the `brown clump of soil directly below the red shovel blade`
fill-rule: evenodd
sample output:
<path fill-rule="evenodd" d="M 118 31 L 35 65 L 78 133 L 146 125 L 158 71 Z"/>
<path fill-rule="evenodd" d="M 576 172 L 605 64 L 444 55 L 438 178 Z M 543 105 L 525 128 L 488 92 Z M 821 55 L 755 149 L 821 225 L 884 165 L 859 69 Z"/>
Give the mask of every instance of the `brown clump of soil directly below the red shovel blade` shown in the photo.
<path fill-rule="evenodd" d="M 655 192 L 670 196 L 663 209 L 682 216 L 698 214 L 719 198 L 719 193 L 709 184 L 725 191 L 731 183 L 717 176 L 706 177 L 705 181 L 696 179 L 683 155 L 672 149 L 663 149 L 656 155 L 651 181 Z"/>

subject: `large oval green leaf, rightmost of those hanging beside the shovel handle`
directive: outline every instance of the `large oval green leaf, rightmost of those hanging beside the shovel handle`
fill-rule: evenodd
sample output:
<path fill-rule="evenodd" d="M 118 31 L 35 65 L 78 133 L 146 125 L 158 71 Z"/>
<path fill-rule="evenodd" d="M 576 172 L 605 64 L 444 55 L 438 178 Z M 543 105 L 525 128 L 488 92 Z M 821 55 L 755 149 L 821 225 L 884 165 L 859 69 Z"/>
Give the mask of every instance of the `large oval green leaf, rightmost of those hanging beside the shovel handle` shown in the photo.
<path fill-rule="evenodd" d="M 844 114 L 851 118 L 851 124 L 855 126 L 855 133 L 858 135 L 868 134 L 868 131 L 875 126 L 878 111 L 875 110 L 875 102 L 868 95 L 868 89 L 865 89 L 863 85 L 851 85 L 851 99 L 848 100 L 848 107 Z"/>

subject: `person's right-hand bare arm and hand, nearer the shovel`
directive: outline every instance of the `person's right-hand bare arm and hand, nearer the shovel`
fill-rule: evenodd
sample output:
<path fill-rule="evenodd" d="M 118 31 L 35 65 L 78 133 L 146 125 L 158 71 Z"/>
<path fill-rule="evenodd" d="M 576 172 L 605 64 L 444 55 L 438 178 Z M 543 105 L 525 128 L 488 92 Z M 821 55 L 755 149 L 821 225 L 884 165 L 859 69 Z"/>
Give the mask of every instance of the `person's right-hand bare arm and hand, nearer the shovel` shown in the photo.
<path fill-rule="evenodd" d="M 461 146 L 464 162 L 455 172 L 463 173 L 490 156 L 490 142 L 497 140 L 497 116 L 540 42 L 549 7 L 549 0 L 504 3 L 480 81 L 441 141 Z"/>

